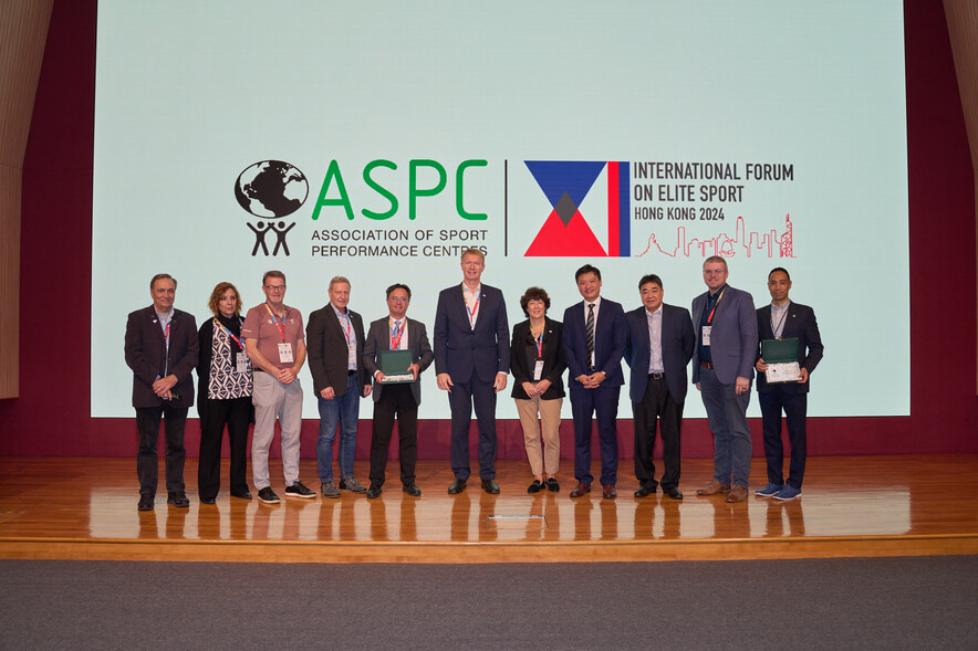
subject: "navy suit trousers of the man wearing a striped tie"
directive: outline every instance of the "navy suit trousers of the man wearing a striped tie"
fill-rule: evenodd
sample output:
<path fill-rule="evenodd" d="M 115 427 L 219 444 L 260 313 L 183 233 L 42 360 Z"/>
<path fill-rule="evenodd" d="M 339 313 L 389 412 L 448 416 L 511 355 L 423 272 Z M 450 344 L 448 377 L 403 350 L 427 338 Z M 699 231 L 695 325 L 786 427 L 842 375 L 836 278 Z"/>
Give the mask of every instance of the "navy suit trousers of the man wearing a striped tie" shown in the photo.
<path fill-rule="evenodd" d="M 621 387 L 571 389 L 571 413 L 574 416 L 574 477 L 591 485 L 591 418 L 597 420 L 601 441 L 601 485 L 613 486 L 618 481 L 618 395 Z"/>

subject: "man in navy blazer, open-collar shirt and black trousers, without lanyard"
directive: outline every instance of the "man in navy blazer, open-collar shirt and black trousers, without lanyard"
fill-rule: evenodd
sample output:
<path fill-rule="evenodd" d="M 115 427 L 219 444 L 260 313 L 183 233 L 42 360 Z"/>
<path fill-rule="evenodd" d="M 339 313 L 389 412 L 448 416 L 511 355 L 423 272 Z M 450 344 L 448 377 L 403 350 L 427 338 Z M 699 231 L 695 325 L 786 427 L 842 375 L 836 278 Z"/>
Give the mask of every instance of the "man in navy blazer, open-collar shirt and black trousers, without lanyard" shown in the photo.
<path fill-rule="evenodd" d="M 628 395 L 635 421 L 636 497 L 655 493 L 655 426 L 663 439 L 663 493 L 682 500 L 679 440 L 686 401 L 686 366 L 693 358 L 696 334 L 685 307 L 663 303 L 663 282 L 655 274 L 638 281 L 642 307 L 625 315 L 628 340 L 625 360 L 632 369 Z"/>

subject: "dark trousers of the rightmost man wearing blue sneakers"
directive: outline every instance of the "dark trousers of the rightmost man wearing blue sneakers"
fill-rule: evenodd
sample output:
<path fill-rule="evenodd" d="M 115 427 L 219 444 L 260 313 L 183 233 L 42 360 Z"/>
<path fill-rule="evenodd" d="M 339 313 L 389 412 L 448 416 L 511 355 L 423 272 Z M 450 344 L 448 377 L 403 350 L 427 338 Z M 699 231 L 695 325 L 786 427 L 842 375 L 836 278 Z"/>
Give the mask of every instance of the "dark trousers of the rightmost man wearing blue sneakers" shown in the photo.
<path fill-rule="evenodd" d="M 805 459 L 805 414 L 808 413 L 808 393 L 794 393 L 785 387 L 768 385 L 768 390 L 758 393 L 761 403 L 761 417 L 764 432 L 764 456 L 768 460 L 768 481 L 772 484 L 784 483 L 784 445 L 781 442 L 781 410 L 788 421 L 788 441 L 791 443 L 791 462 L 788 470 L 788 483 L 801 489 L 804 479 Z"/>

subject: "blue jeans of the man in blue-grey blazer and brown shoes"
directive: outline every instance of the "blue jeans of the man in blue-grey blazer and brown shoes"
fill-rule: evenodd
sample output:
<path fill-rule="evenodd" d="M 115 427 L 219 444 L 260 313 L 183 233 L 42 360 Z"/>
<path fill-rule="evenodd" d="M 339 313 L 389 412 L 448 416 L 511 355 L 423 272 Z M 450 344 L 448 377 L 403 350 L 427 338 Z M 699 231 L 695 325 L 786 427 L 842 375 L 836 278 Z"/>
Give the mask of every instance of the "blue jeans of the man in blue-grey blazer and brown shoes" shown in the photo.
<path fill-rule="evenodd" d="M 725 385 L 710 368 L 699 369 L 703 406 L 714 433 L 714 479 L 721 484 L 747 487 L 750 477 L 750 429 L 747 406 L 750 388 L 737 395 L 737 385 Z"/>

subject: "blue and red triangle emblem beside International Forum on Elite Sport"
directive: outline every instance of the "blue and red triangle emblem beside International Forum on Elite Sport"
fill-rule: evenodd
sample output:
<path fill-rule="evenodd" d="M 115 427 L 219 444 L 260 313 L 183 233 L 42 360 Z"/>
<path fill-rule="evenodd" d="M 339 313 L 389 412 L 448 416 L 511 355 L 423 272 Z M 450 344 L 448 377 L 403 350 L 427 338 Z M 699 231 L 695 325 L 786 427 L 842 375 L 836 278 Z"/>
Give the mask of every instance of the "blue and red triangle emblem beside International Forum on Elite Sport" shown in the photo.
<path fill-rule="evenodd" d="M 534 256 L 630 258 L 630 177 L 626 161 L 526 160 L 527 168 L 553 207 L 543 228 L 523 254 Z M 580 207 L 607 167 L 607 211 L 585 216 Z M 602 245 L 589 225 L 607 220 L 607 243 Z"/>

